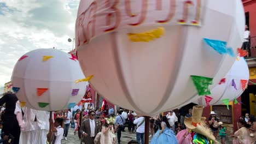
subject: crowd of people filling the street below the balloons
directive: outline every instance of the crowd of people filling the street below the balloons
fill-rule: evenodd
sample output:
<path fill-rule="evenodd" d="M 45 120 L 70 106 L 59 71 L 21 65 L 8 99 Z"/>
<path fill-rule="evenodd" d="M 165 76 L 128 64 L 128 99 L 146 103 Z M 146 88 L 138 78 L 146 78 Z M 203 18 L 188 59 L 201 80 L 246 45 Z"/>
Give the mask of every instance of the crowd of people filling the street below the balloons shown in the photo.
<path fill-rule="evenodd" d="M 144 144 L 146 118 L 133 111 L 119 109 L 115 115 L 111 106 L 109 109 L 106 106 L 104 109 L 90 109 L 87 112 L 77 105 L 71 110 L 56 111 L 53 118 L 49 118 L 49 112 L 21 106 L 15 94 L 4 95 L 0 99 L 0 106 L 3 104 L 5 106 L 1 107 L 0 112 L 0 143 L 46 143 L 46 140 L 51 139 L 49 143 L 59 144 L 61 140 L 68 139 L 69 128 L 74 128 L 74 135 L 78 135 L 83 143 L 121 143 L 121 134 L 127 127 L 127 133 L 136 133 L 136 140 L 129 143 Z M 189 109 L 188 113 L 179 109 L 177 114 L 169 111 L 166 115 L 159 113 L 150 118 L 150 143 L 193 143 L 198 135 L 193 132 L 196 131 L 193 129 L 194 122 L 187 122 L 188 119 L 195 119 L 193 116 L 194 108 Z M 201 114 L 194 117 L 201 118 Z M 230 135 L 234 137 L 235 144 L 255 142 L 256 124 L 253 115 L 246 113 L 245 117 L 240 116 L 238 130 L 234 134 L 228 134 L 225 124 L 219 120 L 214 111 L 211 111 L 207 119 L 202 119 L 201 125 L 211 130 L 208 136 L 213 136 L 211 139 L 219 137 L 220 142 L 225 143 L 226 136 Z M 48 133 L 49 125 L 51 133 Z"/>

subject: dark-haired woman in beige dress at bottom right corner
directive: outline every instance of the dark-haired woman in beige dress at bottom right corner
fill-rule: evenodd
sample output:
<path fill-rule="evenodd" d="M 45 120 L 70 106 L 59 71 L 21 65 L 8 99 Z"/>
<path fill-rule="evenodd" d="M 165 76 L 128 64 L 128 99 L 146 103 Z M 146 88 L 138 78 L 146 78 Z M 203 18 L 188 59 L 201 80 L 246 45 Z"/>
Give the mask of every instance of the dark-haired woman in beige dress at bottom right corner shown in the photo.
<path fill-rule="evenodd" d="M 239 129 L 235 132 L 233 144 L 253 144 L 256 140 L 255 132 L 250 135 L 249 128 L 251 125 L 247 124 L 245 120 L 239 119 L 238 121 Z"/>

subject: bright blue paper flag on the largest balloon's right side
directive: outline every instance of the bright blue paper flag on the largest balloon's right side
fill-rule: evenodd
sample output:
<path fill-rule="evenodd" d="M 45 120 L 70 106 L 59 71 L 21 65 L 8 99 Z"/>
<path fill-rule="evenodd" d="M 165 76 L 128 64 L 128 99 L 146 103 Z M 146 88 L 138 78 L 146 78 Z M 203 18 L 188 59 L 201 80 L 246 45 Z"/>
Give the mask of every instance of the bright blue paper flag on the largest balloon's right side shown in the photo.
<path fill-rule="evenodd" d="M 205 43 L 207 45 L 211 46 L 214 50 L 219 52 L 221 55 L 224 53 L 227 53 L 225 41 L 206 39 L 206 38 L 203 38 L 203 40 L 205 40 Z"/>

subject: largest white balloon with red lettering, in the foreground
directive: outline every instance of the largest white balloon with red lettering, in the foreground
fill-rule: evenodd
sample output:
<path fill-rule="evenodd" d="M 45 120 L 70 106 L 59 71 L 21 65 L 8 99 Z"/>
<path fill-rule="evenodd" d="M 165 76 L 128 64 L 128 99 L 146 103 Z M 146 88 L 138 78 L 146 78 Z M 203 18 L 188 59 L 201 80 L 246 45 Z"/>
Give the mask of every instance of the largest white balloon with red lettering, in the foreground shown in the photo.
<path fill-rule="evenodd" d="M 203 38 L 226 41 L 236 53 L 244 29 L 240 0 L 88 0 L 80 1 L 75 38 L 79 63 L 94 75 L 98 93 L 154 116 L 195 97 L 190 75 L 217 83 L 228 73 L 235 57 L 220 55 Z"/>

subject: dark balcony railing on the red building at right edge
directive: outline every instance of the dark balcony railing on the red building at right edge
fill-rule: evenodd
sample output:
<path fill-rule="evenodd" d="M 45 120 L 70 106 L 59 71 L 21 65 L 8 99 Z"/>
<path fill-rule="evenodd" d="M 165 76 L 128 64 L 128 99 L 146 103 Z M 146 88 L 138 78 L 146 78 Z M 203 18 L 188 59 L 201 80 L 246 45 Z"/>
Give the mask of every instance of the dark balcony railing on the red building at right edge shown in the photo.
<path fill-rule="evenodd" d="M 247 39 L 244 39 L 246 41 Z M 245 58 L 256 58 L 256 37 L 249 38 L 248 43 L 244 44 L 247 49 L 248 55 Z"/>

